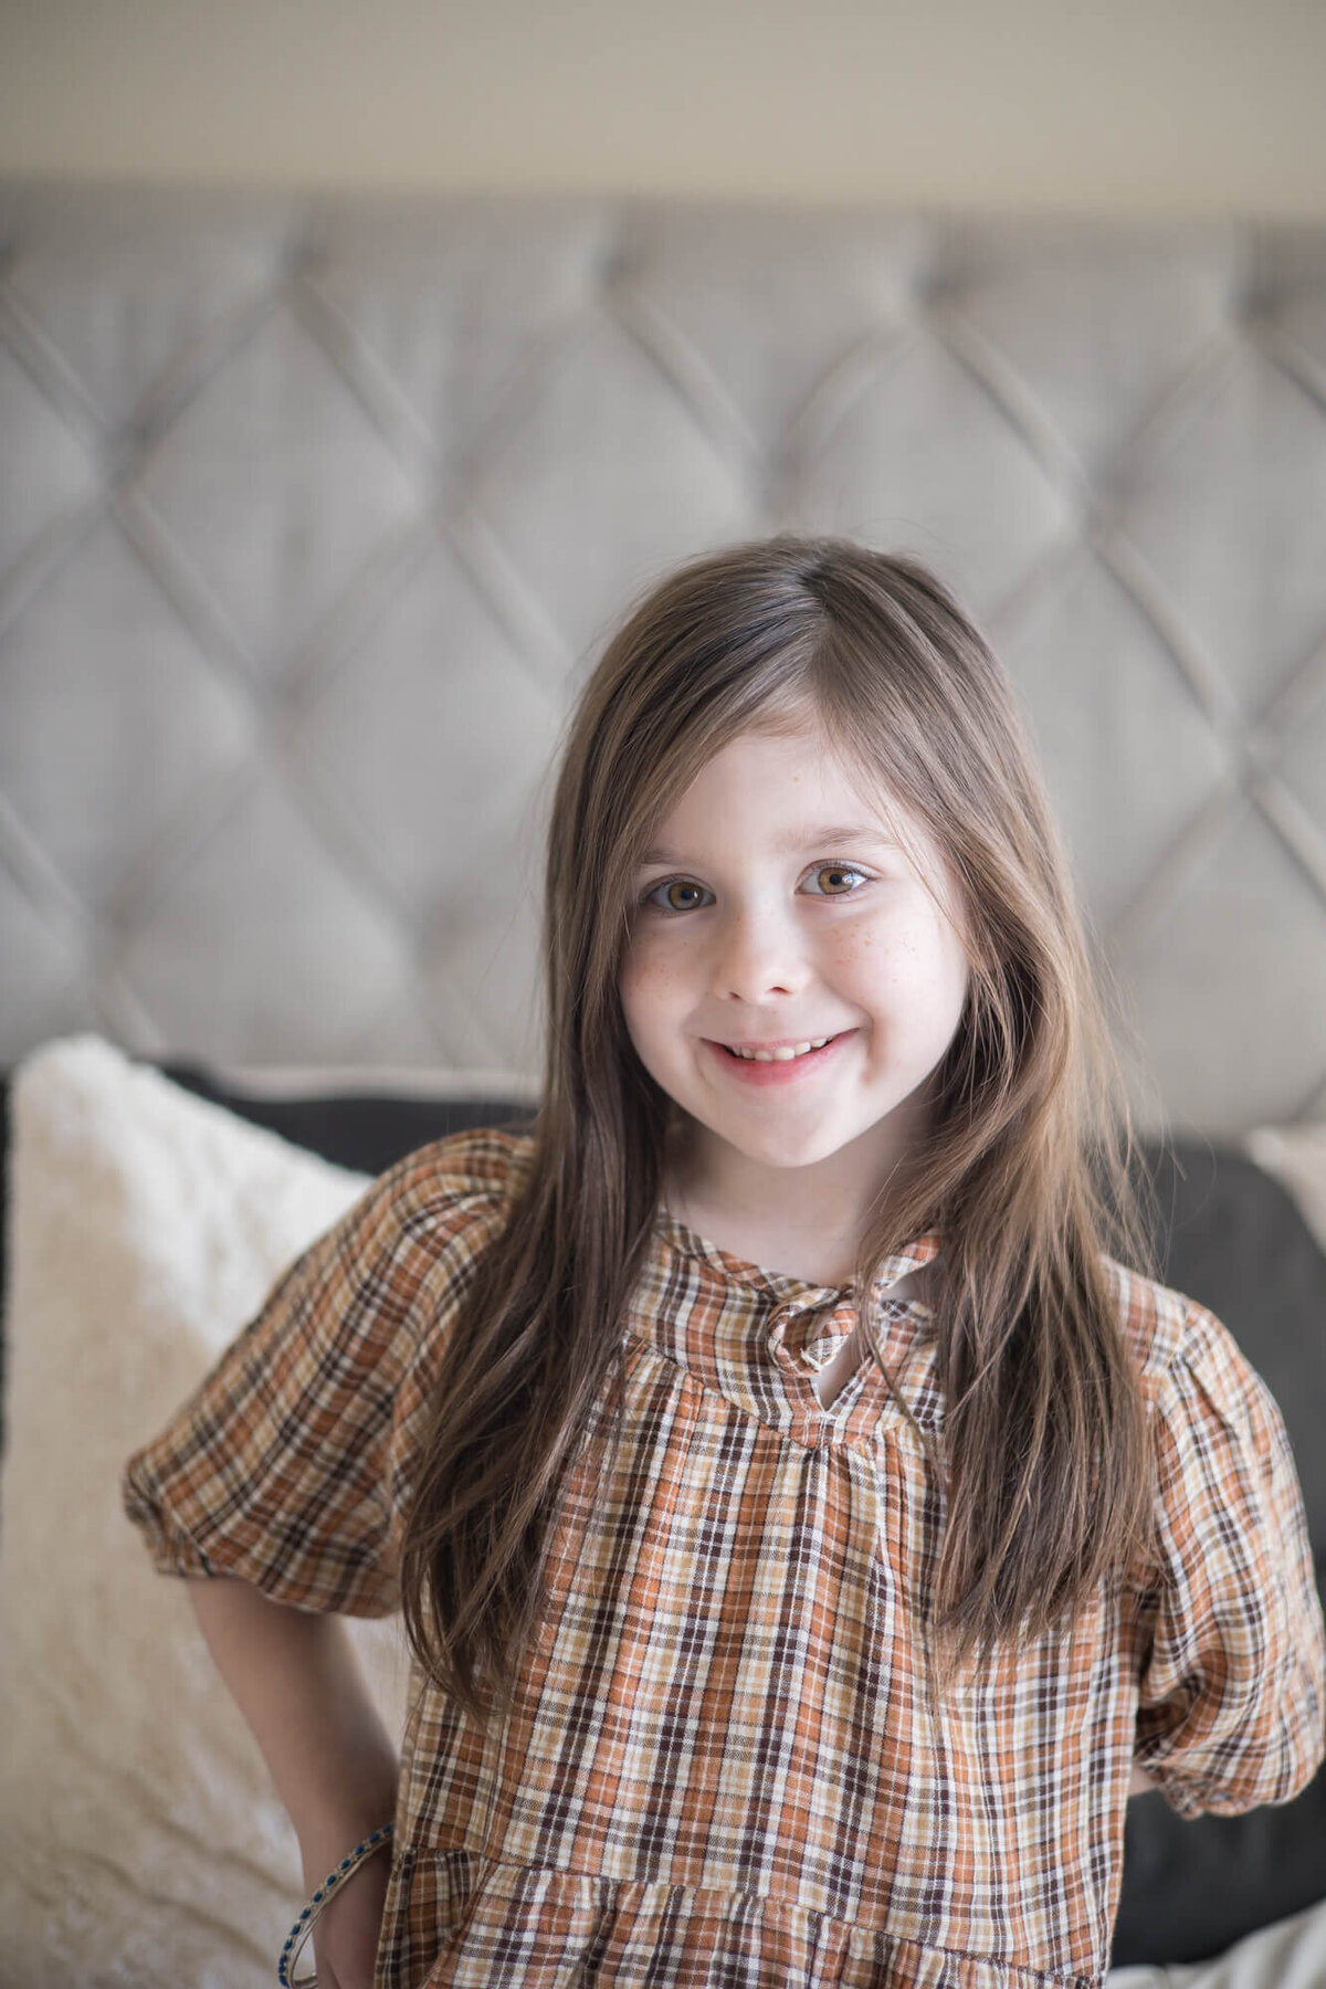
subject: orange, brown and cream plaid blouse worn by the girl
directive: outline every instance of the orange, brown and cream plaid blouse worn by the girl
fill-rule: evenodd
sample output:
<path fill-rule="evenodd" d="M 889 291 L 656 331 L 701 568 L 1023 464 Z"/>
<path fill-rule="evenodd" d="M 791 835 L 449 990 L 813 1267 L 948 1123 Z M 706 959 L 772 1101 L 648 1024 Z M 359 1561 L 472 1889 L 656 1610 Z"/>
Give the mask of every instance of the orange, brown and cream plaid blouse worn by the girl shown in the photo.
<path fill-rule="evenodd" d="M 447 1321 L 529 1138 L 386 1174 L 125 1474 L 167 1573 L 302 1609 L 398 1605 L 394 1541 Z M 942 1438 L 932 1315 L 871 1295 Z M 742 1263 L 660 1211 L 624 1331 L 626 1440 L 573 1478 L 511 1717 L 414 1699 L 376 1989 L 1032 1989 L 1099 1983 L 1139 1760 L 1187 1812 L 1292 1796 L 1324 1641 L 1280 1414 L 1203 1307 L 1113 1265 L 1161 1460 L 1165 1565 L 932 1703 L 944 1530 L 873 1360 L 815 1370 L 851 1287 Z"/>

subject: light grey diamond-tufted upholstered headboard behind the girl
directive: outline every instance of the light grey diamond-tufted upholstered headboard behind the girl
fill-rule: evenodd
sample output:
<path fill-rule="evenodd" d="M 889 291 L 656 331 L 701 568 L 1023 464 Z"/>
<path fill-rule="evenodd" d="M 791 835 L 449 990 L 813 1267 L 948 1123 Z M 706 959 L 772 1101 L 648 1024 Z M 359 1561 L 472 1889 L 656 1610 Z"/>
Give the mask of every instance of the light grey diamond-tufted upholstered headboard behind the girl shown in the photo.
<path fill-rule="evenodd" d="M 672 561 L 930 561 L 1143 1126 L 1326 1112 L 1326 229 L 0 187 L 0 1062 L 539 1070 L 571 696 Z"/>

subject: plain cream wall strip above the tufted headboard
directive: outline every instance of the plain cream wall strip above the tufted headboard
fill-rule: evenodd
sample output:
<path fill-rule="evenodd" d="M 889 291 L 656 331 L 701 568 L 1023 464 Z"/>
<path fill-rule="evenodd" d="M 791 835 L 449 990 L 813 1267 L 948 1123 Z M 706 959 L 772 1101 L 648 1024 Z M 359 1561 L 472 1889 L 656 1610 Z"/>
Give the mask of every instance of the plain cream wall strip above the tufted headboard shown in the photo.
<path fill-rule="evenodd" d="M 0 171 L 1326 213 L 1326 0 L 0 0 Z"/>

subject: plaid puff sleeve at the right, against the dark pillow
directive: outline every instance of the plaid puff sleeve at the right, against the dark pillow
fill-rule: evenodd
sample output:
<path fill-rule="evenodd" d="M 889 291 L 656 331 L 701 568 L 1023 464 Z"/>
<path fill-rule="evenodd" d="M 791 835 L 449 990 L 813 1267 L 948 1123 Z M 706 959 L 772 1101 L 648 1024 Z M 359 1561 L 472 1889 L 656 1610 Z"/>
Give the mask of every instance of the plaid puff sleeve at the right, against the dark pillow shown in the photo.
<path fill-rule="evenodd" d="M 1135 1758 L 1179 1814 L 1288 1802 L 1322 1760 L 1326 1639 L 1280 1410 L 1191 1305 L 1155 1400 L 1159 1581 Z"/>

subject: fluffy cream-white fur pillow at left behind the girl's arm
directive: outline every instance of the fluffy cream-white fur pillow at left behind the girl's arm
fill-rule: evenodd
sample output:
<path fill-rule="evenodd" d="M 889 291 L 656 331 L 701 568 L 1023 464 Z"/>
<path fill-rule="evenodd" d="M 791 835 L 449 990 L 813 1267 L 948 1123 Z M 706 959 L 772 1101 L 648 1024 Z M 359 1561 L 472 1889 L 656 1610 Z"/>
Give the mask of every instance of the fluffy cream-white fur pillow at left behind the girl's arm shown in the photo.
<path fill-rule="evenodd" d="M 16 1072 L 12 1132 L 0 1977 L 266 1989 L 302 1901 L 294 1832 L 119 1474 L 368 1177 L 95 1036 Z M 352 1635 L 400 1732 L 400 1617 Z"/>

